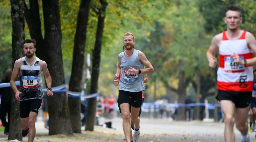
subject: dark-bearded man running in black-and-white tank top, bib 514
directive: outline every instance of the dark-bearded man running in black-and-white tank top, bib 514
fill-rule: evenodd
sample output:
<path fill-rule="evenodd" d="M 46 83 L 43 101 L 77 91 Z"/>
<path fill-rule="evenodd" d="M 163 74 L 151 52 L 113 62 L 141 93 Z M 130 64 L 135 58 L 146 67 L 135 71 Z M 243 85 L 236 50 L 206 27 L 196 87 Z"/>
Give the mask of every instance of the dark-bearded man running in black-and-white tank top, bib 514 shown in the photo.
<path fill-rule="evenodd" d="M 26 56 L 15 61 L 11 77 L 11 87 L 15 92 L 15 99 L 20 101 L 21 134 L 27 136 L 28 142 L 33 142 L 36 135 L 36 116 L 43 99 L 42 77 L 43 71 L 48 86 L 47 95 L 52 96 L 52 78 L 47 69 L 47 64 L 34 56 L 36 41 L 24 41 L 23 51 Z M 16 87 L 15 80 L 19 75 L 20 88 Z"/>

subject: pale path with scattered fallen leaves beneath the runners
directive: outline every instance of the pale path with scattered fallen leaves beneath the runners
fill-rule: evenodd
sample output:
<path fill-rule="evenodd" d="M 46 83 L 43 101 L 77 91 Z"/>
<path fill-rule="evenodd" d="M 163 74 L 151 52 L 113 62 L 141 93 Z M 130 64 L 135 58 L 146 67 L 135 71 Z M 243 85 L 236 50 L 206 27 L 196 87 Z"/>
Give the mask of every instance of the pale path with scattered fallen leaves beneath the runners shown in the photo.
<path fill-rule="evenodd" d="M 104 120 L 102 120 L 104 121 Z M 167 119 L 141 118 L 139 142 L 224 142 L 224 123 L 202 122 L 202 121 L 170 121 Z M 74 136 L 53 135 L 48 136 L 48 130 L 43 127 L 39 119 L 36 122 L 35 142 L 124 142 L 122 119 L 114 118 L 112 127 L 115 129 L 95 126 L 94 132 L 84 131 Z M 236 142 L 240 142 L 240 133 L 234 128 Z M 250 133 L 251 141 L 256 141 L 255 133 Z M 7 136 L 0 133 L 0 142 L 7 141 Z M 23 141 L 27 141 L 24 137 Z"/>

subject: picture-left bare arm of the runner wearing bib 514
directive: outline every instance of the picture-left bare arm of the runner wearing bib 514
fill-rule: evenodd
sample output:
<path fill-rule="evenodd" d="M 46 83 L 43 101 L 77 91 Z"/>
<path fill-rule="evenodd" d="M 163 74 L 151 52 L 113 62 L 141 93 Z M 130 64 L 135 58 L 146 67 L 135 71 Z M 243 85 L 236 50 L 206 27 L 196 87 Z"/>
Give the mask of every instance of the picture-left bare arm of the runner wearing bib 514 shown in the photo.
<path fill-rule="evenodd" d="M 15 99 L 20 101 L 20 91 L 17 89 L 17 86 L 16 86 L 16 79 L 18 77 L 18 74 L 19 74 L 19 71 L 20 71 L 20 67 L 21 67 L 21 64 L 22 64 L 22 59 L 18 59 L 15 61 L 14 63 L 14 67 L 13 67 L 13 70 L 12 70 L 12 76 L 11 76 L 11 80 L 10 80 L 10 85 L 12 87 L 12 90 L 15 92 Z"/>

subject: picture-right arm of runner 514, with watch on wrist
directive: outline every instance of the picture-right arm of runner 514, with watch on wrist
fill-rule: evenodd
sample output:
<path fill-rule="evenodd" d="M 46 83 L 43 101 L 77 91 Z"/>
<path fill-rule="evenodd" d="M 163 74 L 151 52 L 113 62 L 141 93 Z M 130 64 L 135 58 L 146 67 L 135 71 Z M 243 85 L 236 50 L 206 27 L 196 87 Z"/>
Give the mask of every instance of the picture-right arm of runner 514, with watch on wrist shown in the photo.
<path fill-rule="evenodd" d="M 47 64 L 44 62 L 44 61 L 42 61 L 42 60 L 40 60 L 40 67 L 41 67 L 41 69 L 42 69 L 42 71 L 43 71 L 43 73 L 44 73 L 44 76 L 45 76 L 45 81 L 46 81 L 46 84 L 47 84 L 47 87 L 48 88 L 50 88 L 50 87 L 52 87 L 52 77 L 51 77 L 51 75 L 50 75 L 50 73 L 49 73 L 49 70 L 48 70 L 48 68 L 47 68 Z M 49 91 L 49 90 L 47 90 L 47 95 L 49 96 L 52 96 L 53 95 L 53 92 L 52 91 Z"/>

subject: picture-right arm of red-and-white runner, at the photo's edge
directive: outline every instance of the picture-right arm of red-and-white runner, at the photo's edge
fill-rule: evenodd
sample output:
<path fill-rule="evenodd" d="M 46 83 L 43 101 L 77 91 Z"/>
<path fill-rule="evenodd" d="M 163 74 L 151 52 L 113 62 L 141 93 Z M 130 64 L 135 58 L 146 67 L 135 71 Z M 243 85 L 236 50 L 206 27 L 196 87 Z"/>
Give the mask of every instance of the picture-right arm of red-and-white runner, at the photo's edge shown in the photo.
<path fill-rule="evenodd" d="M 247 42 L 247 45 L 252 51 L 254 52 L 254 55 L 256 55 L 256 40 L 252 33 L 246 32 L 245 39 Z M 253 65 L 256 64 L 256 57 L 253 57 L 251 59 L 246 59 L 247 65 Z"/>

